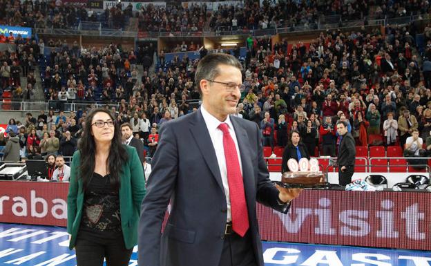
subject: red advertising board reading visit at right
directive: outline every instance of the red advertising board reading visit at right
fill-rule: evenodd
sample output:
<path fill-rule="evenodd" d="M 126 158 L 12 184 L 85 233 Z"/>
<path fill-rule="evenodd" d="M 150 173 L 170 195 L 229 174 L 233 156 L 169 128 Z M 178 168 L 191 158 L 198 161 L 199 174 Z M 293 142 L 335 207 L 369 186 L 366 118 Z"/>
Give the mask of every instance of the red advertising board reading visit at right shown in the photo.
<path fill-rule="evenodd" d="M 307 190 L 283 214 L 258 205 L 262 239 L 431 250 L 431 193 Z"/>

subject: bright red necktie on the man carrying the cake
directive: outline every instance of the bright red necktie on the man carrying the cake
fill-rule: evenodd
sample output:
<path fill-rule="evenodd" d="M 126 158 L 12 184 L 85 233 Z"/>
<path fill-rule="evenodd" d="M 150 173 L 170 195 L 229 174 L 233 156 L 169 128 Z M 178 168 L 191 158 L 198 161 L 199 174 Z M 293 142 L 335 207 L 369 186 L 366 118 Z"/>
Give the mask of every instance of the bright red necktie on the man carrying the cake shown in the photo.
<path fill-rule="evenodd" d="M 236 234 L 244 236 L 249 229 L 249 214 L 245 202 L 244 183 L 242 182 L 238 153 L 236 153 L 235 142 L 229 133 L 229 126 L 222 123 L 218 128 L 223 131 L 224 158 L 231 198 L 232 229 Z"/>

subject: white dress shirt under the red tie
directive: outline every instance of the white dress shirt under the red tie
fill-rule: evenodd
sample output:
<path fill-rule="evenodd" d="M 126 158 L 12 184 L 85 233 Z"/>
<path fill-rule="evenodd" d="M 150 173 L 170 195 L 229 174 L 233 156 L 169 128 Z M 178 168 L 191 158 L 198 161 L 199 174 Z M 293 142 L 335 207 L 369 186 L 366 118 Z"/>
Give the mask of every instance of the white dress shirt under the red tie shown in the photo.
<path fill-rule="evenodd" d="M 224 120 L 224 122 L 220 122 L 217 118 L 215 118 L 213 115 L 208 113 L 207 110 L 205 110 L 203 104 L 202 106 L 200 106 L 200 111 L 202 113 L 202 117 L 204 117 L 205 124 L 207 124 L 209 136 L 211 137 L 211 142 L 213 142 L 215 155 L 217 156 L 218 168 L 220 169 L 220 175 L 222 176 L 224 195 L 226 196 L 227 202 L 227 222 L 231 222 L 231 199 L 229 198 L 229 182 L 227 181 L 226 158 L 224 158 L 223 132 L 218 129 L 218 126 L 222 123 L 226 123 L 229 126 L 229 133 L 231 133 L 233 142 L 235 142 L 236 153 L 238 153 L 238 162 L 240 163 L 242 175 L 241 155 L 238 146 L 238 140 L 236 140 L 236 134 L 233 130 L 233 125 L 229 118 L 229 115 L 227 116 L 227 119 Z"/>

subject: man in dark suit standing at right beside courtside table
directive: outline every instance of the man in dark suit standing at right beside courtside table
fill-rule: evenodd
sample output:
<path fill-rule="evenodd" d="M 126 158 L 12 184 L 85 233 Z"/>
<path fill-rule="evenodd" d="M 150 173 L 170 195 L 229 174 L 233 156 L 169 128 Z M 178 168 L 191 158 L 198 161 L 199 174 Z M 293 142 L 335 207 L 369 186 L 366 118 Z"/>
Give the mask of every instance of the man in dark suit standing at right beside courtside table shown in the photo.
<path fill-rule="evenodd" d="M 345 187 L 352 182 L 354 163 L 356 157 L 355 142 L 352 134 L 347 131 L 347 122 L 338 121 L 337 132 L 340 135 L 340 145 L 338 146 L 338 182 Z"/>

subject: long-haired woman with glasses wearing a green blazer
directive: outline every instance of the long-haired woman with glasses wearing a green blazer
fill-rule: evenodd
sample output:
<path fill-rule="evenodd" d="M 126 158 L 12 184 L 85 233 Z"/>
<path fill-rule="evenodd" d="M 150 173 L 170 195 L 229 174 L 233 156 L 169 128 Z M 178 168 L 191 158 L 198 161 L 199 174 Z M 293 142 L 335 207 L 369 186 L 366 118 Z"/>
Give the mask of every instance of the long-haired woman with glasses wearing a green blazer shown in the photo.
<path fill-rule="evenodd" d="M 87 117 L 73 155 L 68 193 L 69 248 L 78 266 L 128 265 L 137 244 L 145 178 L 135 148 L 121 142 L 105 109 Z"/>

